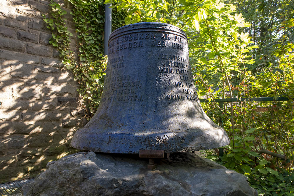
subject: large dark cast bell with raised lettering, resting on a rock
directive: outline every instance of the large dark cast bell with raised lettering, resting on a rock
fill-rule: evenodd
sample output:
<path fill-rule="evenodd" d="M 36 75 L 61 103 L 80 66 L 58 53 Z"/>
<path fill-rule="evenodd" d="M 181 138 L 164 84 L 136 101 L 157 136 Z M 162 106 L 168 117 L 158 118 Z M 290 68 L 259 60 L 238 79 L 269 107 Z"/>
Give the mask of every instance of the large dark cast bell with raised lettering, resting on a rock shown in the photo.
<path fill-rule="evenodd" d="M 184 31 L 143 22 L 113 31 L 100 105 L 71 141 L 106 153 L 185 152 L 230 143 L 201 108 Z"/>

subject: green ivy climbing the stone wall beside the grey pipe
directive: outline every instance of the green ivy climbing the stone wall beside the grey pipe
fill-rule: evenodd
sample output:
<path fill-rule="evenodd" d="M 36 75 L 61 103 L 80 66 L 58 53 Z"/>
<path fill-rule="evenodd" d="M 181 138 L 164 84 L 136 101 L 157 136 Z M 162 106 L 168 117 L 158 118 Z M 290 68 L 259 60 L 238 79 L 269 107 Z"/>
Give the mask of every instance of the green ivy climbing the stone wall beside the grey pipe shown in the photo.
<path fill-rule="evenodd" d="M 69 69 L 78 82 L 78 94 L 85 117 L 89 120 L 100 103 L 107 56 L 104 51 L 104 5 L 102 0 L 68 0 L 72 5 L 70 14 L 76 26 L 76 47 L 71 47 L 73 34 L 67 27 L 67 12 L 51 0 L 51 12 L 43 15 L 47 28 L 52 31 L 51 43 L 60 53 L 62 63 Z M 113 30 L 124 24 L 126 14 L 112 10 Z M 78 58 L 77 58 L 78 56 Z"/>

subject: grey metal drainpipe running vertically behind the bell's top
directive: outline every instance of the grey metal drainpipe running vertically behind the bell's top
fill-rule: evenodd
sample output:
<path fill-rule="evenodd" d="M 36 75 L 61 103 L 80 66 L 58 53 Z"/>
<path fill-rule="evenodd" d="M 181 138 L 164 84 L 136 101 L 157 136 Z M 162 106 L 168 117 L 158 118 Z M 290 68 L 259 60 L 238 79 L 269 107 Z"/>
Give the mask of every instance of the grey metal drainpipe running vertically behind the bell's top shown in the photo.
<path fill-rule="evenodd" d="M 108 55 L 108 40 L 111 33 L 111 4 L 105 4 L 105 23 L 104 23 L 104 55 Z"/>

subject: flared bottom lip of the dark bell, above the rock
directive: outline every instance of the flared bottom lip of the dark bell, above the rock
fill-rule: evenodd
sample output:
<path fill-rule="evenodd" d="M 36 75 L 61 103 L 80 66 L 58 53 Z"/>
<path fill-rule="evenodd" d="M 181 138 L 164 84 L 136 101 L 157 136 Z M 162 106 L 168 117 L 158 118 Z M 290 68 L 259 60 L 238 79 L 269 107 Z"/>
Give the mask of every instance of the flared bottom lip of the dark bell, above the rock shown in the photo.
<path fill-rule="evenodd" d="M 173 132 L 136 135 L 132 133 L 91 133 L 91 131 L 87 133 L 87 129 L 80 129 L 71 140 L 71 146 L 100 153 L 138 154 L 139 150 L 164 150 L 165 153 L 176 153 L 207 150 L 230 144 L 225 130 L 221 127 L 217 129 L 222 134 L 218 137 L 213 137 L 211 133 L 206 134 L 205 130 L 182 131 L 176 135 Z M 216 132 L 217 130 L 214 133 Z M 158 139 L 166 139 L 166 135 L 169 134 L 174 135 L 171 141 L 157 142 Z"/>

